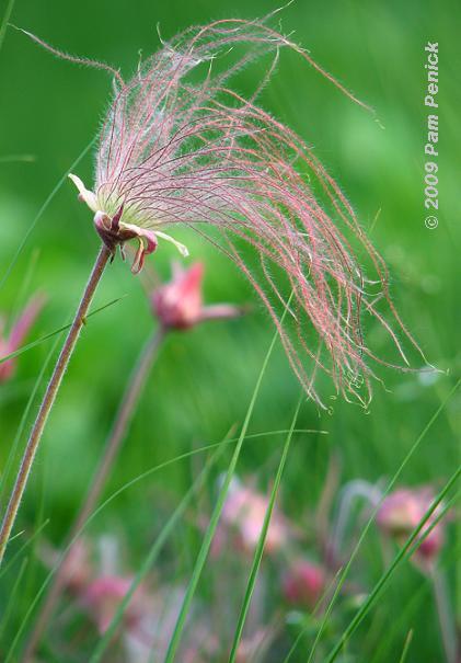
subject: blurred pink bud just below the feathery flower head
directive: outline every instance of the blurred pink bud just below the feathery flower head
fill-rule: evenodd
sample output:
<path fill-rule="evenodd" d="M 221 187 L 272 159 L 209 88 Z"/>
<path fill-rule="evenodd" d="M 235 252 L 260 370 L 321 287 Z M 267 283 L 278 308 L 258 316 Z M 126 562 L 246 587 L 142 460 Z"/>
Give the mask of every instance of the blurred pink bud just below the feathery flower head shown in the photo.
<path fill-rule="evenodd" d="M 201 263 L 195 263 L 188 270 L 174 265 L 172 281 L 152 293 L 152 309 L 164 329 L 184 330 L 205 320 L 235 318 L 242 315 L 241 308 L 228 304 L 204 306 L 203 277 Z"/>

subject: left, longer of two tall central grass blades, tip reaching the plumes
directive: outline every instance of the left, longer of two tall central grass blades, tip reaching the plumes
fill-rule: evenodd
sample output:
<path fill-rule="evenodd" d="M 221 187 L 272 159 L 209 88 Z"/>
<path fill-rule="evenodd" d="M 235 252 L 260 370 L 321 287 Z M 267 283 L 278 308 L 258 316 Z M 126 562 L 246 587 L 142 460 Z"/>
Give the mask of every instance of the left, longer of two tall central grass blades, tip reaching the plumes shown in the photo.
<path fill-rule="evenodd" d="M 284 313 L 284 317 L 285 317 L 285 313 Z M 165 663 L 172 663 L 174 661 L 174 656 L 176 654 L 176 650 L 180 644 L 180 640 L 181 640 L 181 637 L 182 637 L 182 633 L 184 630 L 184 626 L 186 622 L 187 614 L 191 608 L 192 599 L 194 597 L 195 590 L 197 587 L 198 581 L 201 575 L 201 571 L 204 570 L 205 562 L 208 557 L 208 551 L 211 546 L 211 540 L 215 536 L 215 531 L 218 526 L 219 518 L 221 516 L 222 507 L 224 505 L 226 498 L 229 492 L 229 487 L 231 484 L 232 477 L 235 471 L 235 467 L 237 467 L 237 462 L 239 460 L 240 451 L 242 449 L 243 441 L 245 439 L 245 435 L 246 435 L 246 432 L 247 432 L 247 428 L 250 425 L 250 420 L 252 418 L 253 410 L 256 404 L 257 396 L 260 393 L 261 385 L 263 382 L 263 377 L 266 371 L 267 365 L 269 363 L 269 358 L 270 358 L 270 355 L 275 347 L 277 338 L 278 338 L 278 331 L 276 331 L 276 333 L 274 334 L 269 348 L 266 353 L 266 356 L 264 357 L 263 366 L 262 366 L 261 373 L 257 377 L 256 385 L 255 385 L 255 388 L 253 390 L 253 395 L 252 395 L 252 398 L 250 401 L 250 405 L 246 410 L 246 414 L 245 414 L 245 419 L 244 419 L 244 422 L 242 425 L 239 441 L 235 445 L 235 449 L 233 451 L 231 461 L 229 464 L 228 471 L 226 472 L 226 478 L 224 478 L 224 481 L 222 482 L 221 490 L 219 491 L 218 500 L 217 500 L 216 506 L 214 508 L 214 512 L 211 514 L 211 518 L 208 524 L 207 530 L 205 533 L 204 540 L 201 542 L 201 547 L 198 552 L 195 565 L 194 565 L 192 578 L 191 578 L 189 584 L 187 586 L 187 591 L 184 596 L 183 604 L 181 606 L 180 615 L 177 617 L 177 620 L 176 620 L 176 624 L 174 627 L 174 631 L 173 631 L 173 635 L 172 635 L 172 638 L 170 641 L 170 645 L 169 645 L 169 649 L 166 652 Z"/>

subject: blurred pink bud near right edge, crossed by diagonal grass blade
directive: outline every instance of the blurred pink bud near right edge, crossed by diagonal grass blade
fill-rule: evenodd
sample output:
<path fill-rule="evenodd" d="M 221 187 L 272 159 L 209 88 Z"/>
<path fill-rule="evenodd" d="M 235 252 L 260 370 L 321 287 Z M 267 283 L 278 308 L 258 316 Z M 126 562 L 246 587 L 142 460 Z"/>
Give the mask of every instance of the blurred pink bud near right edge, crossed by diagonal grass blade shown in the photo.
<path fill-rule="evenodd" d="M 418 526 L 433 501 L 434 493 L 430 488 L 416 490 L 402 488 L 385 498 L 378 512 L 377 523 L 389 536 L 404 540 Z M 435 525 L 429 534 L 425 535 L 439 514 L 440 506 L 429 517 L 419 535 L 420 544 L 416 555 L 424 561 L 433 561 L 443 545 L 441 523 Z"/>

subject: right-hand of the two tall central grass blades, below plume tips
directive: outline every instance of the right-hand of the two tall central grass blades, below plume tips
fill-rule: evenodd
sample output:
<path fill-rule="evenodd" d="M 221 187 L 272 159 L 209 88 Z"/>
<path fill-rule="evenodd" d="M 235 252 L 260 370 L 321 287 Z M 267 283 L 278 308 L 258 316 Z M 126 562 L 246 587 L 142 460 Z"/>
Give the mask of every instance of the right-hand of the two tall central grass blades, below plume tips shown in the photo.
<path fill-rule="evenodd" d="M 247 613 L 249 613 L 250 603 L 251 603 L 251 599 L 252 599 L 252 596 L 253 596 L 253 592 L 254 592 L 254 587 L 255 587 L 255 584 L 256 584 L 257 573 L 260 571 L 261 561 L 263 559 L 264 546 L 266 544 L 267 531 L 268 531 L 269 524 L 270 524 L 270 518 L 272 518 L 272 515 L 273 515 L 273 512 L 274 512 L 275 501 L 277 499 L 278 489 L 280 487 L 281 477 L 283 477 L 285 465 L 286 465 L 287 457 L 288 457 L 288 450 L 290 448 L 291 438 L 292 438 L 292 435 L 293 435 L 293 431 L 295 431 L 296 422 L 298 420 L 298 414 L 299 414 L 299 410 L 301 408 L 302 400 L 303 400 L 303 398 L 301 396 L 301 398 L 299 399 L 298 404 L 296 407 L 296 411 L 295 411 L 295 415 L 293 415 L 293 419 L 292 419 L 292 422 L 291 422 L 291 426 L 290 426 L 290 430 L 288 432 L 287 438 L 285 441 L 285 445 L 284 445 L 284 449 L 283 449 L 283 453 L 281 453 L 280 462 L 279 462 L 278 469 L 277 469 L 277 475 L 275 477 L 274 485 L 273 485 L 273 489 L 272 489 L 272 492 L 270 492 L 269 503 L 268 503 L 266 513 L 264 515 L 263 528 L 261 530 L 261 535 L 260 535 L 260 538 L 258 538 L 258 541 L 257 541 L 256 550 L 255 550 L 254 556 L 253 556 L 252 568 L 251 568 L 251 571 L 250 571 L 249 582 L 246 584 L 245 595 L 243 597 L 242 608 L 240 610 L 239 620 L 238 620 L 237 628 L 235 628 L 235 633 L 234 633 L 234 637 L 233 637 L 231 653 L 230 653 L 230 656 L 229 656 L 229 663 L 234 663 L 237 654 L 238 654 L 240 640 L 241 640 L 242 633 L 243 633 L 243 627 L 245 626 L 245 620 L 246 620 L 246 616 L 247 616 Z"/>

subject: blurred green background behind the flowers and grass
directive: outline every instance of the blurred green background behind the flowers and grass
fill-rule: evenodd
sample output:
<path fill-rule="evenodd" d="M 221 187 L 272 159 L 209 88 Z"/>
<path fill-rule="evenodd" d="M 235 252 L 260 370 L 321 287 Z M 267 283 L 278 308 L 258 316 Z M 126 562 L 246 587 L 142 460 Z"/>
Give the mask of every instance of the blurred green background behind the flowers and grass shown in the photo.
<path fill-rule="evenodd" d="M 277 7 L 277 2 L 257 0 L 18 0 L 11 21 L 58 48 L 111 62 L 128 75 L 137 66 L 139 52 L 148 55 L 158 48 L 157 24 L 168 38 L 191 24 L 262 16 Z M 326 430 L 329 435 L 297 437 L 281 502 L 287 513 L 309 530 L 309 513 L 315 507 L 332 457 L 339 458 L 342 483 L 357 478 L 370 482 L 389 479 L 460 374 L 461 8 L 454 0 L 438 4 L 298 0 L 276 21 L 281 21 L 285 33 L 377 112 L 379 123 L 292 54 L 281 54 L 279 69 L 262 98 L 266 108 L 315 148 L 347 193 L 389 263 L 393 298 L 404 321 L 428 361 L 446 371 L 427 379 L 418 373 L 381 370 L 388 391 L 377 384 L 368 412 L 338 400 L 331 401 L 332 412 L 326 414 L 313 404 L 303 407 L 299 427 Z M 424 46 L 428 41 L 439 43 L 440 55 L 440 210 L 435 230 L 424 224 Z M 254 89 L 257 77 L 257 67 L 245 72 L 240 81 L 242 92 Z M 103 72 L 54 58 L 9 28 L 0 52 L 0 156 L 34 156 L 33 162 L 0 161 L 2 277 L 41 206 L 95 136 L 108 103 L 111 81 Z M 90 150 L 72 170 L 90 183 L 92 165 Z M 78 204 L 73 185 L 65 181 L 27 236 L 0 290 L 1 312 L 13 313 L 41 290 L 48 302 L 31 339 L 66 323 L 97 243 L 88 209 Z M 166 277 L 170 260 L 175 258 L 174 249 L 163 244 L 150 260 Z M 194 241 L 192 260 L 206 264 L 208 302 L 254 301 L 232 265 L 210 247 Z M 104 276 L 94 306 L 122 296 L 118 304 L 91 319 L 84 330 L 49 421 L 18 530 L 32 531 L 49 518 L 46 537 L 56 544 L 68 530 L 126 378 L 153 324 L 139 279 L 117 260 Z M 369 333 L 372 340 L 373 330 Z M 218 442 L 233 424 L 242 422 L 272 334 L 264 311 L 256 305 L 254 313 L 245 319 L 204 324 L 191 333 L 172 335 L 152 371 L 107 494 L 162 460 L 205 442 Z M 25 353 L 15 379 L 0 385 L 2 464 L 51 343 L 47 341 Z M 326 380 L 321 380 L 319 390 L 329 400 L 332 387 Z M 286 428 L 298 393 L 299 387 L 278 347 L 265 376 L 252 432 Z M 445 405 L 405 468 L 401 484 L 430 482 L 440 487 L 459 465 L 460 399 L 457 392 Z M 256 475 L 258 485 L 266 488 L 281 442 L 281 436 L 249 441 L 239 473 Z M 197 459 L 177 464 L 132 487 L 99 516 L 92 530 L 129 536 L 129 559 L 136 564 L 162 517 L 159 500 L 168 513 L 200 464 Z M 175 573 L 187 575 L 197 545 L 197 534 L 188 525 L 175 535 Z M 450 601 L 453 609 L 458 606 L 459 620 L 461 569 L 457 574 L 456 560 L 461 556 L 460 546 L 461 538 L 457 539 L 452 526 L 441 565 L 450 578 Z M 374 559 L 373 550 L 371 542 L 364 555 L 370 558 L 367 563 L 376 580 L 381 560 Z M 37 588 L 37 575 L 38 562 L 31 564 L 22 594 L 24 605 Z M 8 580 L 3 582 L 8 587 Z M 415 595 L 419 599 L 413 602 L 406 617 L 402 606 L 410 605 Z M 21 609 L 19 602 L 18 619 Z M 349 648 L 356 656 L 353 661 L 396 661 L 411 628 L 415 631 L 411 661 L 443 660 L 430 588 L 411 565 L 393 579 L 390 591 L 368 618 L 368 626 L 371 624 L 373 629 L 361 628 L 354 637 Z"/>

